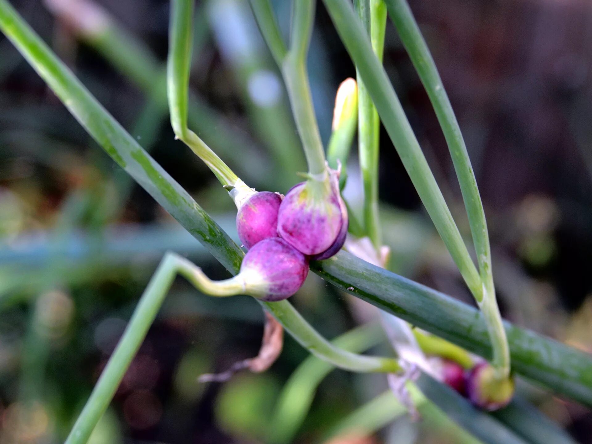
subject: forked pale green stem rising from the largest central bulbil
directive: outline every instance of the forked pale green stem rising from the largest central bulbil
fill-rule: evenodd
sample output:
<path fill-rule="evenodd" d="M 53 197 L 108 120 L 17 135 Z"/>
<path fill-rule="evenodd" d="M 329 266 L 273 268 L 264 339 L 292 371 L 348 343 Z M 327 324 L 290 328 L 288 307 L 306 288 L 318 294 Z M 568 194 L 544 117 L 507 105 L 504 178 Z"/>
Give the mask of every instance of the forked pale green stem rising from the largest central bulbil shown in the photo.
<path fill-rule="evenodd" d="M 306 67 L 306 56 L 313 31 L 315 3 L 314 0 L 293 2 L 291 44 L 286 51 L 269 0 L 250 1 L 261 34 L 268 43 L 284 77 L 292 114 L 294 114 L 308 163 L 308 172 L 311 175 L 322 175 L 324 181 L 327 179 L 325 154 L 314 114 Z"/>

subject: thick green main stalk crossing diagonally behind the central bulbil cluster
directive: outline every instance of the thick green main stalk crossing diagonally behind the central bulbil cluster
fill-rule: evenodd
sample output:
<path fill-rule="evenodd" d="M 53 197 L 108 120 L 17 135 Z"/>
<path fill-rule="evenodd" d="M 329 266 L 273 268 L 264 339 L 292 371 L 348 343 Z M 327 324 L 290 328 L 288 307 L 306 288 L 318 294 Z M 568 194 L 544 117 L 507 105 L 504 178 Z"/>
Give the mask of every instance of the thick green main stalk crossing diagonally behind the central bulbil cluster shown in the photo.
<path fill-rule="evenodd" d="M 353 18 L 357 20 L 355 15 Z M 244 254 L 239 246 L 101 107 L 6 0 L 0 0 L 0 30 L 99 146 L 214 258 L 236 274 Z M 363 31 L 361 35 L 366 38 Z M 483 314 L 467 304 L 343 251 L 331 259 L 311 263 L 311 268 L 349 294 L 469 352 L 491 356 Z M 278 304 L 289 305 L 284 301 L 269 303 L 266 307 Z M 589 354 L 508 322 L 504 322 L 504 328 L 509 338 L 514 371 L 558 393 L 592 405 L 592 357 Z"/>

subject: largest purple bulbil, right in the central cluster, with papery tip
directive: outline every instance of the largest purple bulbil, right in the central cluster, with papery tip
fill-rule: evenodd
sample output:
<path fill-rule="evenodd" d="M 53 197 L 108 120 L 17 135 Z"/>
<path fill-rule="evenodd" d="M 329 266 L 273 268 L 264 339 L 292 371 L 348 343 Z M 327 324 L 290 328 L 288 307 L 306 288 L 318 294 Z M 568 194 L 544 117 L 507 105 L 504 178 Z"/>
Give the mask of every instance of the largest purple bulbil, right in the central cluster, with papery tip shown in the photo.
<path fill-rule="evenodd" d="M 341 249 L 348 233 L 348 211 L 336 172 L 329 187 L 307 181 L 288 192 L 279 207 L 278 233 L 311 259 L 327 259 Z"/>

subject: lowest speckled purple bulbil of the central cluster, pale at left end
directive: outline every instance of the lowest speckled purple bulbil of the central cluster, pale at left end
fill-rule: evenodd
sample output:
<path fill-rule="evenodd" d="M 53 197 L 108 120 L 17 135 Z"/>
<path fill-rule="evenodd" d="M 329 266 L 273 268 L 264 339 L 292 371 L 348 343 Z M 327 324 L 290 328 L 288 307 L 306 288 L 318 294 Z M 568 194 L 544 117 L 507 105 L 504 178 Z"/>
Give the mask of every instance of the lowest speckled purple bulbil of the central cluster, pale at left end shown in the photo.
<path fill-rule="evenodd" d="M 240 272 L 255 271 L 269 282 L 264 301 L 281 301 L 298 291 L 308 275 L 308 259 L 279 237 L 256 243 L 244 256 Z"/>

